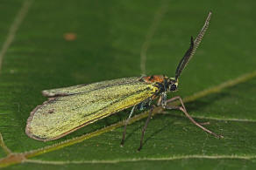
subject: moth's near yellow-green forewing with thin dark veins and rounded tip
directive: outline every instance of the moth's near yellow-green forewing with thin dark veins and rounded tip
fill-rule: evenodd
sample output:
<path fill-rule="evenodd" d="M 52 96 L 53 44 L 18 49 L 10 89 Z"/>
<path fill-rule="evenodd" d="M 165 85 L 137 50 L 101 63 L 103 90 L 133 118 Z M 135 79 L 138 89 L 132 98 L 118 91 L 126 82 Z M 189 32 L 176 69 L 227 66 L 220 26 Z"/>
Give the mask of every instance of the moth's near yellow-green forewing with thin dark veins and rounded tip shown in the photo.
<path fill-rule="evenodd" d="M 151 98 L 158 90 L 139 78 L 121 78 L 68 90 L 71 94 L 49 99 L 37 106 L 27 120 L 26 133 L 33 139 L 58 139 L 112 113 Z M 65 88 L 61 91 L 66 92 Z M 75 93 L 72 93 L 75 92 Z"/>

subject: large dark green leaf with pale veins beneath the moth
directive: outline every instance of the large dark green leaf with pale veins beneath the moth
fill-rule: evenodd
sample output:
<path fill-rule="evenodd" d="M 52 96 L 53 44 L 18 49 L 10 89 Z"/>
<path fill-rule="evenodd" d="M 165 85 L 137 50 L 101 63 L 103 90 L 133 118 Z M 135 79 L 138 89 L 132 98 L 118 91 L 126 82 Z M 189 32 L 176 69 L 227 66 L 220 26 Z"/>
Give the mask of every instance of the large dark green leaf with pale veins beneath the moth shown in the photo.
<path fill-rule="evenodd" d="M 254 1 L 0 4 L 0 167 L 256 167 Z M 49 142 L 25 134 L 30 112 L 46 100 L 42 90 L 140 76 L 144 64 L 147 75 L 173 77 L 189 37 L 196 37 L 210 10 L 209 30 L 182 72 L 179 92 L 169 98 L 180 95 L 191 116 L 210 122 L 205 126 L 224 139 L 204 133 L 182 112 L 155 110 L 142 150 L 137 152 L 147 112 L 136 112 L 120 147 L 129 109 Z"/>

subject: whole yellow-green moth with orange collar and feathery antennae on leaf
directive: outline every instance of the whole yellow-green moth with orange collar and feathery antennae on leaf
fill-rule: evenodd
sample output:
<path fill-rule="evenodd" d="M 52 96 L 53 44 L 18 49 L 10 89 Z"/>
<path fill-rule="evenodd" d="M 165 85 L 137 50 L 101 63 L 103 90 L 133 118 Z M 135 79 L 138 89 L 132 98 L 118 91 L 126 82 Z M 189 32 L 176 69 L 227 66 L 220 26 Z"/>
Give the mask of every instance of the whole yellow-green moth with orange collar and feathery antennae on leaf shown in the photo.
<path fill-rule="evenodd" d="M 159 99 L 158 105 L 166 109 L 178 109 L 184 112 L 196 126 L 199 126 L 207 133 L 216 137 L 222 137 L 198 124 L 192 119 L 180 97 L 167 99 L 167 92 L 175 92 L 178 87 L 178 78 L 181 71 L 188 64 L 189 59 L 196 52 L 205 31 L 210 23 L 211 12 L 209 13 L 203 29 L 200 31 L 195 41 L 191 37 L 190 46 L 186 51 L 180 64 L 177 66 L 174 78 L 153 75 L 133 78 L 118 78 L 93 83 L 90 85 L 75 85 L 64 88 L 57 88 L 43 91 L 43 95 L 49 99 L 42 105 L 38 105 L 27 119 L 25 133 L 32 139 L 43 141 L 59 139 L 72 133 L 82 126 L 87 126 L 103 119 L 111 114 L 123 111 L 132 107 L 132 111 L 124 126 L 124 144 L 126 126 L 135 109 L 152 108 L 153 99 Z M 167 103 L 180 100 L 181 106 L 169 106 Z M 152 109 L 151 109 L 152 110 Z M 146 126 L 151 117 L 149 113 L 146 125 L 143 128 L 139 150 L 143 144 Z"/>

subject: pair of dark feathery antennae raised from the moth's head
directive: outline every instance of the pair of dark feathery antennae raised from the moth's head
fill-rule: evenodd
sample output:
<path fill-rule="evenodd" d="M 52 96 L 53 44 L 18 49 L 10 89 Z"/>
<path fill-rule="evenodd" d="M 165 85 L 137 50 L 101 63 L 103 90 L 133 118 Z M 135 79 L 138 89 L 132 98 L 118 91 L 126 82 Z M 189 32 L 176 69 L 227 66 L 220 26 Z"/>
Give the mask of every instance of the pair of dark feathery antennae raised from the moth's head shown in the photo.
<path fill-rule="evenodd" d="M 180 61 L 179 65 L 177 66 L 177 69 L 176 69 L 176 72 L 175 72 L 175 80 L 177 80 L 180 77 L 181 71 L 186 67 L 186 65 L 188 65 L 188 61 L 196 53 L 196 49 L 199 46 L 199 44 L 201 43 L 201 41 L 203 39 L 203 36 L 204 36 L 204 33 L 208 29 L 208 26 L 210 24 L 210 16 L 211 16 L 211 14 L 212 14 L 212 12 L 210 11 L 209 14 L 208 14 L 208 17 L 205 20 L 203 28 L 199 32 L 199 34 L 197 35 L 195 41 L 193 41 L 193 37 L 191 37 L 190 46 L 188 48 L 188 51 L 186 51 L 184 57 L 181 58 L 181 61 Z"/>

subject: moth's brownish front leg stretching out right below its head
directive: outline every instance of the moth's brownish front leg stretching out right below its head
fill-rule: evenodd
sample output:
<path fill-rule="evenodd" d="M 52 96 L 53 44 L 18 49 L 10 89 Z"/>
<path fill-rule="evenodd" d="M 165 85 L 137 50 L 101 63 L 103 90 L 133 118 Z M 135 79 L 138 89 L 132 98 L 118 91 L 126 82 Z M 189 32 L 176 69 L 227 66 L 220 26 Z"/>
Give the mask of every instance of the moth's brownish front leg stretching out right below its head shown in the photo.
<path fill-rule="evenodd" d="M 216 133 L 213 133 L 213 132 L 211 132 L 210 130 L 208 130 L 207 128 L 205 128 L 205 127 L 201 126 L 199 123 L 197 123 L 196 120 L 193 119 L 193 118 L 188 114 L 188 112 L 187 112 L 187 110 L 186 110 L 186 107 L 185 107 L 185 105 L 183 104 L 183 101 L 182 101 L 182 99 L 181 99 L 180 96 L 176 96 L 176 97 L 174 97 L 174 98 L 172 98 L 172 99 L 168 99 L 167 102 L 171 102 L 171 101 L 174 101 L 174 100 L 177 100 L 177 99 L 180 100 L 181 106 L 168 106 L 168 105 L 166 105 L 165 108 L 166 108 L 166 109 L 177 109 L 177 110 L 180 110 L 181 112 L 184 112 L 184 114 L 188 117 L 188 119 L 189 119 L 192 123 L 194 123 L 196 126 L 198 126 L 198 127 L 200 127 L 201 129 L 203 129 L 203 131 L 205 131 L 206 133 L 210 133 L 210 134 L 214 135 L 214 136 L 217 137 L 217 138 L 224 138 L 224 136 L 219 135 L 219 134 L 216 134 Z"/>

